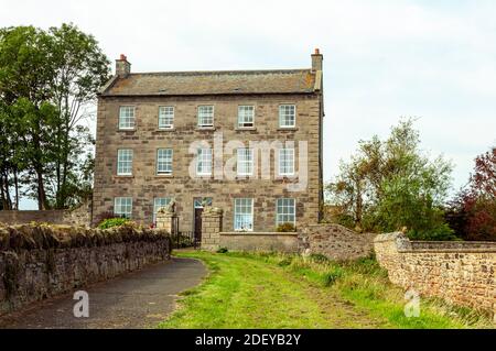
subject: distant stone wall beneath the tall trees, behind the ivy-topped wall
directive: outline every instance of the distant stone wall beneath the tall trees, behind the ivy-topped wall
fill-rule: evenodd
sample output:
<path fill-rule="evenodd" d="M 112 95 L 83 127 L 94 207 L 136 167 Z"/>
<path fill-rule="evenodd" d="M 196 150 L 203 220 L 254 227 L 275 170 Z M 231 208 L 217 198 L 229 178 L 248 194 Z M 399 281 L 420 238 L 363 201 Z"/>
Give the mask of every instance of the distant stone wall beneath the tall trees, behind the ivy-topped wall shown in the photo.
<path fill-rule="evenodd" d="M 2 210 L 0 211 L 0 222 L 6 224 L 45 222 L 51 224 L 89 227 L 91 223 L 91 204 L 86 202 L 73 210 Z"/>

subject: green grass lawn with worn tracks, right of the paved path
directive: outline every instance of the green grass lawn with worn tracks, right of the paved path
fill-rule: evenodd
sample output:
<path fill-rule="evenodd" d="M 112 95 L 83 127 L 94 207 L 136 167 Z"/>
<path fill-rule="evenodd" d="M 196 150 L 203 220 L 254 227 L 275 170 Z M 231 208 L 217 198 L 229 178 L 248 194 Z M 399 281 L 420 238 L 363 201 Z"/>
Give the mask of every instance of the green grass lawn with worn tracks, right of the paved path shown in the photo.
<path fill-rule="evenodd" d="M 325 257 L 180 252 L 202 260 L 211 274 L 183 294 L 160 328 L 470 328 L 490 321 L 435 300 L 421 316 L 403 314 L 403 292 L 374 260 L 337 264 Z"/>

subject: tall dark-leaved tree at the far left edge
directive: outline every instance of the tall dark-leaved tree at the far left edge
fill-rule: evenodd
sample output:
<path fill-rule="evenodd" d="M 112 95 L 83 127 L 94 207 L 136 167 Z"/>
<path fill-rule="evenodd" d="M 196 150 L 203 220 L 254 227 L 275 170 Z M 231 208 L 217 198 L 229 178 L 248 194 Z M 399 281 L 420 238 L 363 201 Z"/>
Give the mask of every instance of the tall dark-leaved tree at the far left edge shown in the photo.
<path fill-rule="evenodd" d="M 43 31 L 33 26 L 0 30 L 0 123 L 2 130 L 15 132 L 15 135 L 10 134 L 11 142 L 8 143 L 9 147 L 14 147 L 11 150 L 15 155 L 2 154 L 6 157 L 2 172 L 7 178 L 13 173 L 14 183 L 19 173 L 29 172 L 34 178 L 40 209 L 47 208 L 43 162 L 45 151 L 51 151 L 43 147 L 50 132 L 43 120 L 46 110 L 41 111 L 41 108 L 51 98 L 50 83 L 54 74 L 51 56 L 51 40 Z M 25 117 L 19 114 L 22 109 L 28 113 Z M 6 184 L 9 182 L 7 179 Z M 9 191 L 4 196 L 9 197 Z"/>

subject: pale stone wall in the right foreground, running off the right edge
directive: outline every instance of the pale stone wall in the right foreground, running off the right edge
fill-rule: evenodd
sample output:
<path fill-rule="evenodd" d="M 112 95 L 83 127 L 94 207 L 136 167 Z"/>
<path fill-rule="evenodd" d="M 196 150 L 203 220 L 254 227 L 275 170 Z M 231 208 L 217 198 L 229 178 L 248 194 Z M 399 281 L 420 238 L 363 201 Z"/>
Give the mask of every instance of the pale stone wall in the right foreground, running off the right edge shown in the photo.
<path fill-rule="evenodd" d="M 496 321 L 495 242 L 412 242 L 390 233 L 378 235 L 374 246 L 393 284 L 487 311 Z"/>

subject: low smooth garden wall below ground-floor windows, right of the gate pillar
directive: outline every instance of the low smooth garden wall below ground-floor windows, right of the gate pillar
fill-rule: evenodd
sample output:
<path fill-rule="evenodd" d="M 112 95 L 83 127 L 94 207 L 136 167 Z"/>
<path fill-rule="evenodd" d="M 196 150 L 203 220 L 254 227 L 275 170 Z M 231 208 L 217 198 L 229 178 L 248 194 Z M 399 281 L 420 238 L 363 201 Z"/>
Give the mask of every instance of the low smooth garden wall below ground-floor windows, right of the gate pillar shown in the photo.
<path fill-rule="evenodd" d="M 223 232 L 219 246 L 230 251 L 299 252 L 298 233 Z"/>

